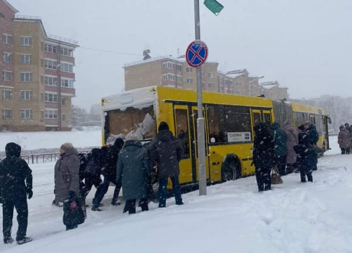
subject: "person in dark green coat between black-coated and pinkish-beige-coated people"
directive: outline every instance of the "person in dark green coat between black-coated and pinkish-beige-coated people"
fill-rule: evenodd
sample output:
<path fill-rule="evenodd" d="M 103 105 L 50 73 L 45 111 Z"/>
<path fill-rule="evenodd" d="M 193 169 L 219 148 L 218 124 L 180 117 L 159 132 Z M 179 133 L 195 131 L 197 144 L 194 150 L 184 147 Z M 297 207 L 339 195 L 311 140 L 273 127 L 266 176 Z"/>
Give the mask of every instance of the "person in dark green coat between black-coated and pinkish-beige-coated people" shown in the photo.
<path fill-rule="evenodd" d="M 279 175 L 283 176 L 286 175 L 287 135 L 277 122 L 271 125 L 271 130 L 275 149 L 274 164 L 278 168 Z"/>

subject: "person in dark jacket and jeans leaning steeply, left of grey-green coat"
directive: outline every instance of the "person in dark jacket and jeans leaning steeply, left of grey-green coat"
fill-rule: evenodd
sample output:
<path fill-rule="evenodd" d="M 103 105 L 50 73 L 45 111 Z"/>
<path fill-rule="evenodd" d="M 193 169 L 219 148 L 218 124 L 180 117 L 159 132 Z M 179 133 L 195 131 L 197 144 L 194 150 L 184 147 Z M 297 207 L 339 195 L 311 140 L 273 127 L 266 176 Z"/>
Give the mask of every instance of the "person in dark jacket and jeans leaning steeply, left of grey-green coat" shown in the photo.
<path fill-rule="evenodd" d="M 103 184 L 101 185 L 100 194 L 96 197 L 96 204 L 100 204 L 103 200 L 104 195 L 109 190 L 110 183 L 115 185 L 114 195 L 111 200 L 111 205 L 120 205 L 121 203 L 118 202 L 118 195 L 120 194 L 121 190 L 121 182 L 117 181 L 117 161 L 118 155 L 120 150 L 124 145 L 124 141 L 121 138 L 117 138 L 114 142 L 114 145 L 111 147 L 103 147 L 104 150 L 103 154 L 103 164 L 104 167 L 102 168 L 102 175 L 104 176 Z"/>

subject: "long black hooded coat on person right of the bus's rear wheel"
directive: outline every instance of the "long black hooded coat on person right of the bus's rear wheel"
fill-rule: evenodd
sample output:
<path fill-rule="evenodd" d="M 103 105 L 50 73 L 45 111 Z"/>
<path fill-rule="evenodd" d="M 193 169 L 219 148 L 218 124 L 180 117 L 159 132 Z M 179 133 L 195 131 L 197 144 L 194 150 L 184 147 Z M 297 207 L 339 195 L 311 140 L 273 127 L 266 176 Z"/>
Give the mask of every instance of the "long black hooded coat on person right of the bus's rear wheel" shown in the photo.
<path fill-rule="evenodd" d="M 274 141 L 268 126 L 265 123 L 259 123 L 254 127 L 254 147 L 253 147 L 253 163 L 256 171 L 270 171 L 274 163 Z"/>

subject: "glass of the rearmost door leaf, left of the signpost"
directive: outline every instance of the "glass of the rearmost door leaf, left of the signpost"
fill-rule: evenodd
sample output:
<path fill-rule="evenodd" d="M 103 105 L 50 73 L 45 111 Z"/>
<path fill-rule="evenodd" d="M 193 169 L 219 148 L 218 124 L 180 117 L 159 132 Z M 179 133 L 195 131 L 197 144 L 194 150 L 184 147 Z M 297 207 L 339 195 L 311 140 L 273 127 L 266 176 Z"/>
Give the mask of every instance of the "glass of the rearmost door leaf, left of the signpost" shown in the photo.
<path fill-rule="evenodd" d="M 182 159 L 190 158 L 189 150 L 189 130 L 188 130 L 188 116 L 186 109 L 176 109 L 176 135 L 182 143 L 184 154 Z"/>

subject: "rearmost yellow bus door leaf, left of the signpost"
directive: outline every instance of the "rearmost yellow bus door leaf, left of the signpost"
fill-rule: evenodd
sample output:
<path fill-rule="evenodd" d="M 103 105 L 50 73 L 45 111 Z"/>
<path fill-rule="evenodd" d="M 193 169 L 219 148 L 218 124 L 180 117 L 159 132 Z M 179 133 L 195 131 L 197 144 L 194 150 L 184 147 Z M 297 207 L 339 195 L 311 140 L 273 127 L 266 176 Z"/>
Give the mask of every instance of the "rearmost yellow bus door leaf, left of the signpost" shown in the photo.
<path fill-rule="evenodd" d="M 189 121 L 189 109 L 186 105 L 174 106 L 175 135 L 180 139 L 183 147 L 183 155 L 179 162 L 180 183 L 193 182 L 192 145 Z"/>

